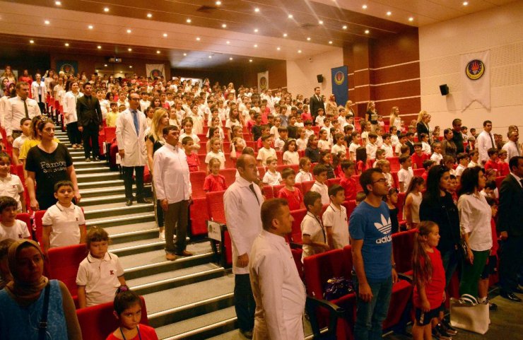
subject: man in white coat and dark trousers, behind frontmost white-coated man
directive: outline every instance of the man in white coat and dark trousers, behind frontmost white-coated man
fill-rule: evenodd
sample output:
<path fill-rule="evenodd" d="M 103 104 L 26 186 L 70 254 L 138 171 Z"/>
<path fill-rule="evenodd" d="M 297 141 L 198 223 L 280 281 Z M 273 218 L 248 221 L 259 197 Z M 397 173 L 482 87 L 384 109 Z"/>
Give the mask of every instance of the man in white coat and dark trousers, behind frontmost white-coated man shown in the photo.
<path fill-rule="evenodd" d="M 223 195 L 225 218 L 233 244 L 233 273 L 235 274 L 235 310 L 240 333 L 252 339 L 254 328 L 254 297 L 249 280 L 249 254 L 252 242 L 262 231 L 260 209 L 264 198 L 258 180 L 256 159 L 242 155 L 236 161 L 240 176 Z"/>

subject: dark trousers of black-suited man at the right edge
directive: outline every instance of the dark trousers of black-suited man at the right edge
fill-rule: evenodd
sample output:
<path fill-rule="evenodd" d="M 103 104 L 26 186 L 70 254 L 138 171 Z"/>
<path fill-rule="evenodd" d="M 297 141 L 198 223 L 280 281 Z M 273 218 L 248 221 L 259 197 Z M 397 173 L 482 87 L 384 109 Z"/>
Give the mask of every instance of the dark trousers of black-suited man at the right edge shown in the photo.
<path fill-rule="evenodd" d="M 512 293 L 517 288 L 517 275 L 523 266 L 523 236 L 510 236 L 500 241 L 500 286 L 504 293 Z"/>

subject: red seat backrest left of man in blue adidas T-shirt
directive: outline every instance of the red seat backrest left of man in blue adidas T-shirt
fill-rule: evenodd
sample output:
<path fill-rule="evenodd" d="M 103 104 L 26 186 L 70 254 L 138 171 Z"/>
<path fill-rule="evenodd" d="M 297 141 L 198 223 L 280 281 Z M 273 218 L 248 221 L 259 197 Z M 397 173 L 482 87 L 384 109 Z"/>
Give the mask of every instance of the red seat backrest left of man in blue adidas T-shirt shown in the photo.
<path fill-rule="evenodd" d="M 323 299 L 325 283 L 336 276 L 345 276 L 346 264 L 343 250 L 335 249 L 303 259 L 305 286 L 307 293 L 315 298 Z"/>

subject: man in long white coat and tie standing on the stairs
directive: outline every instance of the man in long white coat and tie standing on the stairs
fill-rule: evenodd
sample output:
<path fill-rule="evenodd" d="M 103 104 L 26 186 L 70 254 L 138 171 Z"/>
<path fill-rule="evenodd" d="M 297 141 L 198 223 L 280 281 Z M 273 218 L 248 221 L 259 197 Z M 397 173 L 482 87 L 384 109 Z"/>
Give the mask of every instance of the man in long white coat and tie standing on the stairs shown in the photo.
<path fill-rule="evenodd" d="M 138 110 L 140 96 L 138 93 L 129 95 L 129 108 L 120 113 L 116 119 L 116 140 L 120 165 L 124 170 L 124 185 L 126 205 L 133 204 L 133 173 L 136 178 L 136 201 L 151 203 L 143 197 L 143 170 L 147 163 L 145 131 L 146 116 Z"/>

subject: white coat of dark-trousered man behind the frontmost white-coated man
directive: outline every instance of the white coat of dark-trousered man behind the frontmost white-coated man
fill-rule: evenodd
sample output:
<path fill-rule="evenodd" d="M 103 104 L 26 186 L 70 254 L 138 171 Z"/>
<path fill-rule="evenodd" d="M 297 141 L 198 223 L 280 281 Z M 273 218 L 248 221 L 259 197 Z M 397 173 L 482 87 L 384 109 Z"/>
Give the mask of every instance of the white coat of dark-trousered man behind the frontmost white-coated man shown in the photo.
<path fill-rule="evenodd" d="M 158 152 L 158 151 L 156 151 Z M 256 196 L 249 189 L 249 182 L 243 177 L 237 177 L 223 195 L 225 219 L 230 240 L 233 243 L 233 273 L 249 274 L 249 267 L 237 266 L 237 257 L 251 252 L 252 243 L 262 231 L 260 210 L 264 198 L 262 191 L 253 184 Z"/>

